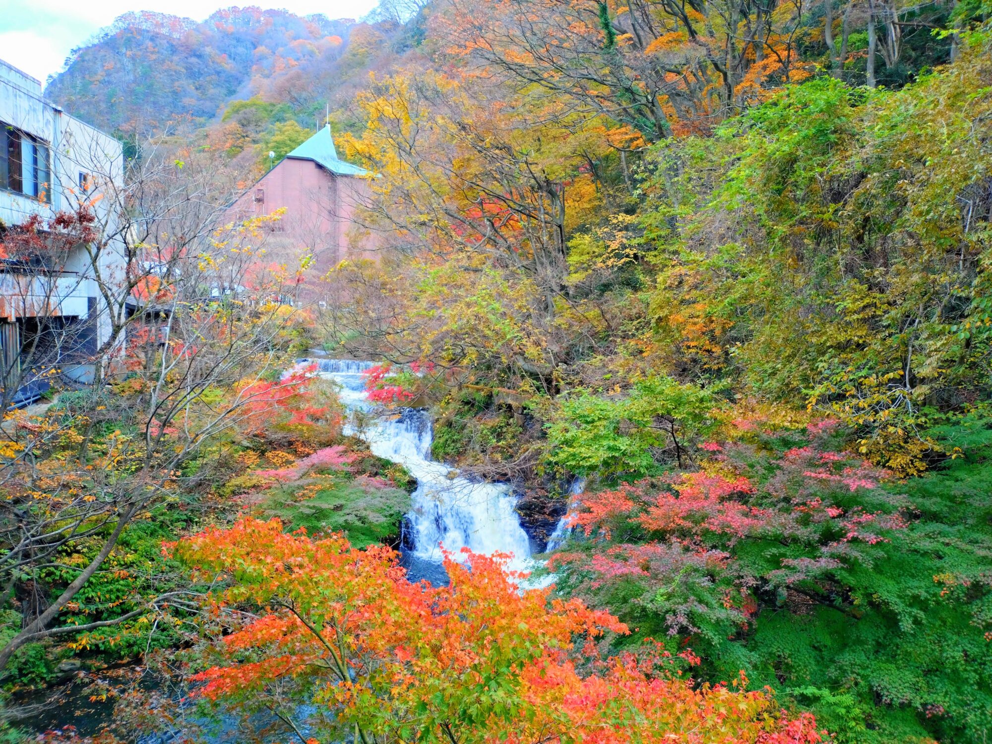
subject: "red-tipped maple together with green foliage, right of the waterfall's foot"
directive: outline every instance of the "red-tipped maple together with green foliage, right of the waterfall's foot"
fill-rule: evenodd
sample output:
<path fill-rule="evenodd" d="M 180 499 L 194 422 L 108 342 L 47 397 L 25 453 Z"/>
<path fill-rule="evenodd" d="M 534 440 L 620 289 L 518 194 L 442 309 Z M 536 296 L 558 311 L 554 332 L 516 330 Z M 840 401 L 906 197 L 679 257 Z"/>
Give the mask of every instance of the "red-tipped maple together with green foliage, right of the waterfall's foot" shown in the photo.
<path fill-rule="evenodd" d="M 652 532 L 634 498 L 607 540 L 565 549 L 559 590 L 612 609 L 641 637 L 671 638 L 673 650 L 684 640 L 702 657 L 702 679 L 745 670 L 838 742 L 981 741 L 992 720 L 990 425 L 974 417 L 970 455 L 881 487 L 852 466 L 849 487 L 811 477 L 837 455 L 795 448 L 795 435 L 724 444 L 704 468 L 743 473 L 753 490 L 732 503 L 759 510 L 747 513 L 757 521 L 727 516 L 715 528 L 726 532 L 689 541 L 693 528 Z M 819 510 L 846 526 L 804 516 Z M 868 516 L 851 520 L 858 514 Z M 881 515 L 895 517 L 889 529 L 845 536 Z"/>

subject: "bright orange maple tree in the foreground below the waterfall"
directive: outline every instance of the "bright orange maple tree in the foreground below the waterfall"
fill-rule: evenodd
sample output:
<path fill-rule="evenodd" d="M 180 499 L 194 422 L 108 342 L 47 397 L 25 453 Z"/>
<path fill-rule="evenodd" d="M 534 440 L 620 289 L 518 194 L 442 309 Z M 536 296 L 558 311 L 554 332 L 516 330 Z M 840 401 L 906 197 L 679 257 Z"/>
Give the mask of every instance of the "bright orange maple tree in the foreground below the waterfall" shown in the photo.
<path fill-rule="evenodd" d="M 194 678 L 195 694 L 268 707 L 306 742 L 821 741 L 811 716 L 790 718 L 743 676 L 695 686 L 665 652 L 599 658 L 596 640 L 626 626 L 521 589 L 499 556 L 448 558 L 450 583 L 433 587 L 407 580 L 387 547 L 253 519 L 166 550 L 227 579 L 211 595 L 218 615 L 260 610 L 216 644 L 219 663 Z M 277 686 L 295 690 L 292 706 L 273 708 Z M 318 711 L 302 726 L 301 703 Z"/>

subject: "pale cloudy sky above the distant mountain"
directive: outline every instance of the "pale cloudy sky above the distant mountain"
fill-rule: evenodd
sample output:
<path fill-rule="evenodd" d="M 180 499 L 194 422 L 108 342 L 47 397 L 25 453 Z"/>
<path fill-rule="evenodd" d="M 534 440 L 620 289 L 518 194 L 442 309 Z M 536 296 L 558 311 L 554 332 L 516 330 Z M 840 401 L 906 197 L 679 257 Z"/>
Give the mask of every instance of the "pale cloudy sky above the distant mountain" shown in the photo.
<path fill-rule="evenodd" d="M 9 62 L 44 84 L 62 69 L 69 51 L 130 10 L 154 10 L 196 21 L 231 5 L 285 8 L 298 15 L 322 13 L 328 18 L 361 18 L 376 0 L 0 0 L 0 60 Z"/>

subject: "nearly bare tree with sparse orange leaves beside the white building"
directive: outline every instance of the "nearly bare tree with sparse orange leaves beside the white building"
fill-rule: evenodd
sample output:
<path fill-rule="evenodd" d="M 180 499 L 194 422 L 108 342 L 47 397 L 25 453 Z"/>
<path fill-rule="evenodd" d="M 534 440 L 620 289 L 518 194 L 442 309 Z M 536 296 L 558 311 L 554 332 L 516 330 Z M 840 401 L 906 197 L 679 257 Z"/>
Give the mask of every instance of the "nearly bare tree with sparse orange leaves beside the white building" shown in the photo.
<path fill-rule="evenodd" d="M 163 155 L 146 152 L 123 181 L 93 174 L 75 213 L 57 215 L 41 241 L 81 251 L 101 334 L 75 358 L 90 365 L 91 387 L 64 392 L 40 415 L 9 414 L 0 430 L 2 596 L 22 609 L 0 667 L 25 643 L 146 611 L 69 624 L 62 614 L 127 526 L 176 493 L 183 464 L 236 426 L 257 396 L 234 384 L 285 363 L 289 316 L 271 301 L 292 292 L 296 273 L 266 266 L 270 220 L 218 227 L 226 199 L 216 173 Z M 6 245 L 35 242 L 22 232 Z M 96 547 L 46 595 L 41 574 L 82 545 Z"/>

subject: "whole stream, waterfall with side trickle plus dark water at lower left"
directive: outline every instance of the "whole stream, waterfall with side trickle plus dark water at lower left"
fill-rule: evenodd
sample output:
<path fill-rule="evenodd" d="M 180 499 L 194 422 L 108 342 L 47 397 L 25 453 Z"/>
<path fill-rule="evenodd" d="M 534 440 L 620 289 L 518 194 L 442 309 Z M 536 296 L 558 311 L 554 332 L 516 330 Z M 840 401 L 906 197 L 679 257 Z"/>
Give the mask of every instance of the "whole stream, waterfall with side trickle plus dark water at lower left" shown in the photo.
<path fill-rule="evenodd" d="M 529 570 L 538 565 L 531 558 L 533 555 L 557 548 L 566 537 L 568 530 L 564 518 L 559 521 L 550 541 L 529 537 L 515 510 L 517 498 L 509 484 L 466 478 L 458 475 L 454 468 L 432 459 L 433 426 L 426 410 L 403 408 L 385 415 L 376 411 L 368 400 L 363 374 L 373 362 L 315 358 L 301 363 L 316 364 L 320 377 L 333 380 L 339 386 L 339 398 L 349 414 L 345 434 L 364 439 L 374 454 L 402 464 L 417 479 L 412 508 L 403 521 L 400 548 L 401 563 L 410 580 L 427 579 L 434 585 L 446 583 L 444 553 L 458 559 L 462 548 L 485 555 L 508 554 L 511 556 L 509 568 Z M 527 585 L 538 584 L 528 582 Z M 39 690 L 29 694 L 24 701 L 38 703 L 41 710 L 22 719 L 18 725 L 35 732 L 71 724 L 79 735 L 94 735 L 108 725 L 113 716 L 113 702 L 94 703 L 81 684 L 66 685 L 58 690 Z M 183 719 L 180 710 L 185 707 L 177 703 L 177 722 Z M 267 722 L 260 721 L 260 725 Z M 195 724 L 203 721 L 193 717 L 190 723 L 198 728 Z M 138 742 L 166 744 L 185 741 L 187 735 L 195 736 L 196 741 L 204 744 L 239 741 L 234 718 L 222 716 L 218 728 L 208 735 L 200 731 L 191 733 L 179 724 L 170 733 L 149 734 Z"/>

